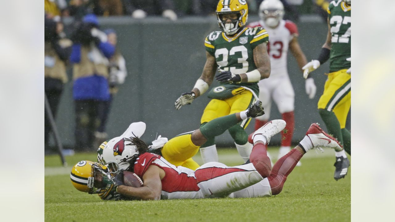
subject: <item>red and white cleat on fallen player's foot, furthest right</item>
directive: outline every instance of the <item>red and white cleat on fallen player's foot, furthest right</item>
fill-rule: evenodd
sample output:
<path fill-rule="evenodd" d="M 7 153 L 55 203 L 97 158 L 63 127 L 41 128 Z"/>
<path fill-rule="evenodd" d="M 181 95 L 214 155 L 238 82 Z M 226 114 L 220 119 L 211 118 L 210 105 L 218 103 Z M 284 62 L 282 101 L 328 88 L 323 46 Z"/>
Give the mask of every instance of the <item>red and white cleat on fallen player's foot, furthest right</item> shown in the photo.
<path fill-rule="evenodd" d="M 306 135 L 310 138 L 313 147 L 321 151 L 322 147 L 329 147 L 335 149 L 335 151 L 343 150 L 343 146 L 340 145 L 339 141 L 322 130 L 318 123 L 311 124 Z"/>

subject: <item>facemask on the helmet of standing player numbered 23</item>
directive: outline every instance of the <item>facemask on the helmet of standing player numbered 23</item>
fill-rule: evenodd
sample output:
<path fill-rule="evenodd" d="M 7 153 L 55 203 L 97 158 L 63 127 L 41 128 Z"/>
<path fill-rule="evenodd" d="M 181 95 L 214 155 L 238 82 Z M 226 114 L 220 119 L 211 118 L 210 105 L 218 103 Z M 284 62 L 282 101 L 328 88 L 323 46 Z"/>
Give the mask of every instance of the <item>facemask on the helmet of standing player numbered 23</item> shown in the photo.
<path fill-rule="evenodd" d="M 245 13 L 246 11 L 244 9 L 240 11 L 217 12 L 218 26 L 220 26 L 222 32 L 225 32 L 225 34 L 233 35 L 245 25 L 243 23 Z"/>

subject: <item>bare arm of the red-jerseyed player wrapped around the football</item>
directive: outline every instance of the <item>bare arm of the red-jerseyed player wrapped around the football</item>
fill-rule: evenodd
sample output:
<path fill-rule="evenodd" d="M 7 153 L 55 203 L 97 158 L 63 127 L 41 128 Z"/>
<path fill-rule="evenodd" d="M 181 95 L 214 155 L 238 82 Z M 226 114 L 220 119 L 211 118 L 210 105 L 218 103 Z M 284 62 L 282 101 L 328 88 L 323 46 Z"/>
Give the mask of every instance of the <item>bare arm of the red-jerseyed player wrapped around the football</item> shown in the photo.
<path fill-rule="evenodd" d="M 161 179 L 165 176 L 163 169 L 158 166 L 149 166 L 143 175 L 144 184 L 142 187 L 135 188 L 132 186 L 119 185 L 117 192 L 124 196 L 143 199 L 159 200 L 162 192 Z"/>

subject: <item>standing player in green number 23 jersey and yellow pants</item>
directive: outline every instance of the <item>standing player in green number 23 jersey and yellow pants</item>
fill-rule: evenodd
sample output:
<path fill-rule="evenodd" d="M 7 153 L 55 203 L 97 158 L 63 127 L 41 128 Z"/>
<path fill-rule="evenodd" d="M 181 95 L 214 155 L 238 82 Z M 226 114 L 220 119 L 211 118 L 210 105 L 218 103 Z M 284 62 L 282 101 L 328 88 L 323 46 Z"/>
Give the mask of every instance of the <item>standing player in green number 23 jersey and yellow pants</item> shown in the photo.
<path fill-rule="evenodd" d="M 270 59 L 266 44 L 269 35 L 262 27 L 246 28 L 248 6 L 246 0 L 220 0 L 216 9 L 222 32 L 211 32 L 204 41 L 206 63 L 203 73 L 191 92 L 183 93 L 175 102 L 178 110 L 191 104 L 216 80 L 221 83 L 208 93 L 212 100 L 201 117 L 201 126 L 218 117 L 247 109 L 258 100 L 258 81 L 270 75 Z M 243 160 L 250 156 L 252 145 L 244 131 L 250 119 L 228 129 Z M 214 138 L 200 147 L 203 162 L 218 162 Z"/>

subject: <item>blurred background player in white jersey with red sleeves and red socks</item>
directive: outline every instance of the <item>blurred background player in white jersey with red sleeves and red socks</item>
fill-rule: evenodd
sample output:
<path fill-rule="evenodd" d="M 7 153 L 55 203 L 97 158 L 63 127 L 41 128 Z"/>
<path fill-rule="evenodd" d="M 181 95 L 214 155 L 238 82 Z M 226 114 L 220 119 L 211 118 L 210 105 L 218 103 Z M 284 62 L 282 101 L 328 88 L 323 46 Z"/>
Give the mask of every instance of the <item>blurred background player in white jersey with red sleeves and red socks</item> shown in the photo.
<path fill-rule="evenodd" d="M 294 128 L 294 100 L 295 93 L 288 76 L 287 54 L 290 49 L 296 58 L 299 68 L 307 64 L 305 54 L 300 48 L 299 36 L 295 23 L 282 19 L 284 6 L 280 0 L 264 0 L 259 7 L 260 21 L 249 24 L 249 27 L 261 26 L 270 36 L 267 52 L 270 57 L 271 73 L 267 79 L 259 81 L 259 100 L 263 102 L 265 115 L 255 119 L 255 130 L 263 126 L 270 117 L 272 98 L 286 121 L 287 126 L 281 134 L 281 146 L 278 158 L 291 150 L 291 141 Z M 316 86 L 312 78 L 305 81 L 306 93 L 310 99 L 316 94 Z M 298 163 L 300 166 L 300 163 Z"/>

